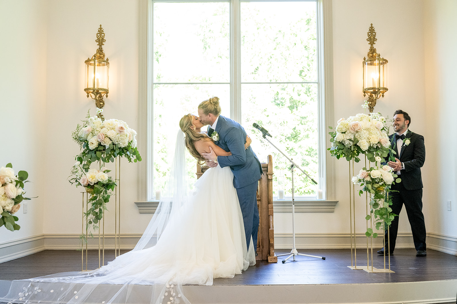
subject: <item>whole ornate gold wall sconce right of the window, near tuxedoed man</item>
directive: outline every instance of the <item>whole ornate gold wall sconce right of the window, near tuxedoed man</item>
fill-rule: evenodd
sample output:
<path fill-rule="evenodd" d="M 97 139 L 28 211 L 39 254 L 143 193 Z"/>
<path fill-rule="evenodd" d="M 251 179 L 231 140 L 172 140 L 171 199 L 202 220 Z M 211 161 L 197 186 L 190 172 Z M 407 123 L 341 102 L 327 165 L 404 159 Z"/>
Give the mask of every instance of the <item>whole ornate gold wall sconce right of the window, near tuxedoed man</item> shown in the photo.
<path fill-rule="evenodd" d="M 388 91 L 387 88 L 387 63 L 388 61 L 381 58 L 381 55 L 376 52 L 373 47 L 376 39 L 376 31 L 373 24 L 368 29 L 368 50 L 367 57 L 363 57 L 363 97 L 368 94 L 368 109 L 370 113 L 373 112 L 376 100 L 384 97 L 384 93 Z"/>

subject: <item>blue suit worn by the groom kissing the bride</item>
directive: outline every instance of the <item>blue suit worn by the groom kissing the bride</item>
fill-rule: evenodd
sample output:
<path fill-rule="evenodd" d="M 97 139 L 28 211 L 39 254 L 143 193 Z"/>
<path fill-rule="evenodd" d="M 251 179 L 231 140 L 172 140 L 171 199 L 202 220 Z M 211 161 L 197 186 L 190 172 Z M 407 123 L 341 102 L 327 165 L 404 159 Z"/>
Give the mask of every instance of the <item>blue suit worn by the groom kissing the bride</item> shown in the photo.
<path fill-rule="evenodd" d="M 239 123 L 219 115 L 215 131 L 219 134 L 219 140 L 215 141 L 215 144 L 232 153 L 230 156 L 218 156 L 218 163 L 221 168 L 230 166 L 233 172 L 233 185 L 236 188 L 243 214 L 246 243 L 249 249 L 252 236 L 255 250 L 259 230 L 257 187 L 262 174 L 262 166 L 251 147 L 244 149 L 246 132 Z"/>

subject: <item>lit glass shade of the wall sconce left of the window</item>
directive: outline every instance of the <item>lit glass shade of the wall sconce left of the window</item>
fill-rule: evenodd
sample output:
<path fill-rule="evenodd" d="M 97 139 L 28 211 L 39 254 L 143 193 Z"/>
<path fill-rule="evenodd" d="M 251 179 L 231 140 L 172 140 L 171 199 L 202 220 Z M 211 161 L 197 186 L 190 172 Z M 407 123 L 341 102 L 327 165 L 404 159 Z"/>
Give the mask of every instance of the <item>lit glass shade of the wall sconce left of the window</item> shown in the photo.
<path fill-rule="evenodd" d="M 108 93 L 108 71 L 110 63 L 106 60 L 87 59 L 85 61 L 86 93 Z"/>

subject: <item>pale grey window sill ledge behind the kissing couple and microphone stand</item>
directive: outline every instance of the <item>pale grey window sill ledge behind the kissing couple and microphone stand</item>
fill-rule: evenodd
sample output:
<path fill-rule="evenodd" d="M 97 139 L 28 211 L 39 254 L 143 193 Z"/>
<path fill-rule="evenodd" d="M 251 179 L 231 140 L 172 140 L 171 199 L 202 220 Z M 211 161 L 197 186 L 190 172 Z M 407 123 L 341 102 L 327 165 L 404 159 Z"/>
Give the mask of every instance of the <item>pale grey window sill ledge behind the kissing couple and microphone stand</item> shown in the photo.
<path fill-rule="evenodd" d="M 334 212 L 338 201 L 295 201 L 295 212 Z M 154 213 L 159 201 L 135 201 L 139 213 Z M 274 212 L 292 212 L 292 201 L 273 201 Z"/>

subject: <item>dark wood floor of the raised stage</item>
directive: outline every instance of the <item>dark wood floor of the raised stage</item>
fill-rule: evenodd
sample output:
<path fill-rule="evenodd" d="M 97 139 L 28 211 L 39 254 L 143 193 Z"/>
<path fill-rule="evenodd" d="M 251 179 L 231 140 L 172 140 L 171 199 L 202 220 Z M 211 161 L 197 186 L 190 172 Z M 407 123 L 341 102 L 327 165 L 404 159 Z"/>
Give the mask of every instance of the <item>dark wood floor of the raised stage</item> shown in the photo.
<path fill-rule="evenodd" d="M 126 252 L 126 251 L 123 251 Z M 276 250 L 276 254 L 290 250 Z M 278 263 L 258 262 L 234 278 L 217 278 L 214 285 L 265 285 L 265 284 L 339 284 L 339 283 L 390 283 L 433 281 L 457 278 L 457 256 L 427 250 L 428 256 L 418 258 L 414 249 L 396 249 L 391 256 L 391 269 L 395 273 L 367 273 L 351 270 L 349 249 L 298 250 L 299 253 L 325 256 L 326 259 L 298 256 L 296 261 L 285 257 Z M 375 253 L 376 254 L 376 253 Z M 105 251 L 105 261 L 114 258 L 113 250 Z M 98 268 L 98 251 L 89 251 L 88 269 Z M 366 251 L 357 251 L 357 266 L 366 265 Z M 383 257 L 373 256 L 373 265 L 383 268 Z M 72 250 L 45 250 L 27 257 L 0 263 L 0 279 L 33 278 L 51 273 L 80 271 L 81 252 Z"/>

